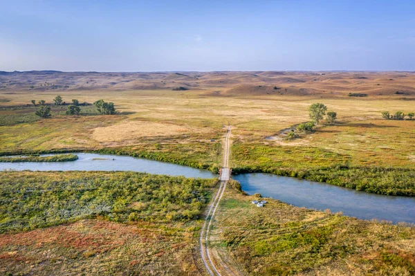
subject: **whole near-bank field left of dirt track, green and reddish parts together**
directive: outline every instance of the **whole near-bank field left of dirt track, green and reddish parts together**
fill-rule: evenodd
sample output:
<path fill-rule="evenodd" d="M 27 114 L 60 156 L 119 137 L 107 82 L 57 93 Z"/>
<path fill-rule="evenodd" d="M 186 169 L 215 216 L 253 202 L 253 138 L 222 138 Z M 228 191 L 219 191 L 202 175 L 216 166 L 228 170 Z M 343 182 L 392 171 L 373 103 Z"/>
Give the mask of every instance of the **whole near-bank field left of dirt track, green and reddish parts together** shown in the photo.
<path fill-rule="evenodd" d="M 201 275 L 194 236 L 214 179 L 1 172 L 0 183 L 0 274 Z"/>

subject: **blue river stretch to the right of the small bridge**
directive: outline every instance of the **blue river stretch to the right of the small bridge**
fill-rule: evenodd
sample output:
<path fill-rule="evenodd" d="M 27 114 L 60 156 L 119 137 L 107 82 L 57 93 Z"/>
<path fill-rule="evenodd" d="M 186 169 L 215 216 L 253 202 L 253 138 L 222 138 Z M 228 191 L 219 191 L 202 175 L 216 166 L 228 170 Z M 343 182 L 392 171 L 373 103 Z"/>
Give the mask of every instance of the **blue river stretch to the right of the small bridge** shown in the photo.
<path fill-rule="evenodd" d="M 359 219 L 385 219 L 415 223 L 415 198 L 383 196 L 327 183 L 273 174 L 240 174 L 233 177 L 248 194 L 259 193 L 298 207 L 330 209 Z"/>

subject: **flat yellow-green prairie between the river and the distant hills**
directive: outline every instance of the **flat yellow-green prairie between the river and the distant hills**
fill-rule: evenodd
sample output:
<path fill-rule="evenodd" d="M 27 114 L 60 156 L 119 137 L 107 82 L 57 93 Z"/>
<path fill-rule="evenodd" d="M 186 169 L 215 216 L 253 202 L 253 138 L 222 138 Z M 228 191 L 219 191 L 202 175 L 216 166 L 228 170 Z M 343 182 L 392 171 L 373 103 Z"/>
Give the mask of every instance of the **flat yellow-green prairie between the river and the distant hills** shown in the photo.
<path fill-rule="evenodd" d="M 303 84 L 302 84 L 303 85 Z M 222 89 L 223 87 L 212 87 Z M 33 93 L 33 92 L 32 92 Z M 0 152 L 73 149 L 124 149 L 141 157 L 185 163 L 210 169 L 218 167 L 223 125 L 232 125 L 233 167 L 321 168 L 335 164 L 355 167 L 406 167 L 413 169 L 415 120 L 382 120 L 381 111 L 414 111 L 412 100 L 371 95 L 365 98 L 322 95 L 224 96 L 211 89 L 188 91 L 29 91 L 5 94 L 0 112 L 19 116 L 6 106 L 43 98 L 51 102 L 57 93 L 64 100 L 111 100 L 118 116 L 57 116 L 0 127 Z M 400 97 L 400 95 L 398 95 Z M 308 121 L 308 107 L 323 102 L 338 113 L 335 125 L 320 125 L 315 133 L 287 141 L 282 129 Z M 88 107 L 90 109 L 90 107 Z M 82 107 L 84 109 L 84 107 Z M 33 112 L 33 111 L 32 111 Z M 10 115 L 10 114 L 9 114 Z M 274 140 L 266 140 L 271 137 Z M 210 142 L 210 140 L 214 142 Z M 199 165 L 197 165 L 199 164 Z"/>

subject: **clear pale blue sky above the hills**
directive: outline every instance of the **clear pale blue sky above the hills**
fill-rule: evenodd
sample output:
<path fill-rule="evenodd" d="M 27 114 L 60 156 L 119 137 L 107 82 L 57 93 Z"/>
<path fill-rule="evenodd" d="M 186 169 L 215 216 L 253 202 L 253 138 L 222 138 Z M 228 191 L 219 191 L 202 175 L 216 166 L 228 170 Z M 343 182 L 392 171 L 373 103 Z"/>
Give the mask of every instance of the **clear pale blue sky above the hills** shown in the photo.
<path fill-rule="evenodd" d="M 415 71 L 415 1 L 0 0 L 0 71 Z"/>

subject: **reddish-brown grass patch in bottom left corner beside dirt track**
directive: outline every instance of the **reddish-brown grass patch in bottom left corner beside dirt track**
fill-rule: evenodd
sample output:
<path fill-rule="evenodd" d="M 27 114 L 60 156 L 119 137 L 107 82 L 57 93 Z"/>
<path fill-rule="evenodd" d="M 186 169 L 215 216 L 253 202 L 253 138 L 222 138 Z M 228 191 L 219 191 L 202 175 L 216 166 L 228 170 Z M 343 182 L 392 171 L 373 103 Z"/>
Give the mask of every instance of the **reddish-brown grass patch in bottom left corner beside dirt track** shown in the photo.
<path fill-rule="evenodd" d="M 88 219 L 0 234 L 0 274 L 204 275 L 193 252 L 200 226 Z"/>

